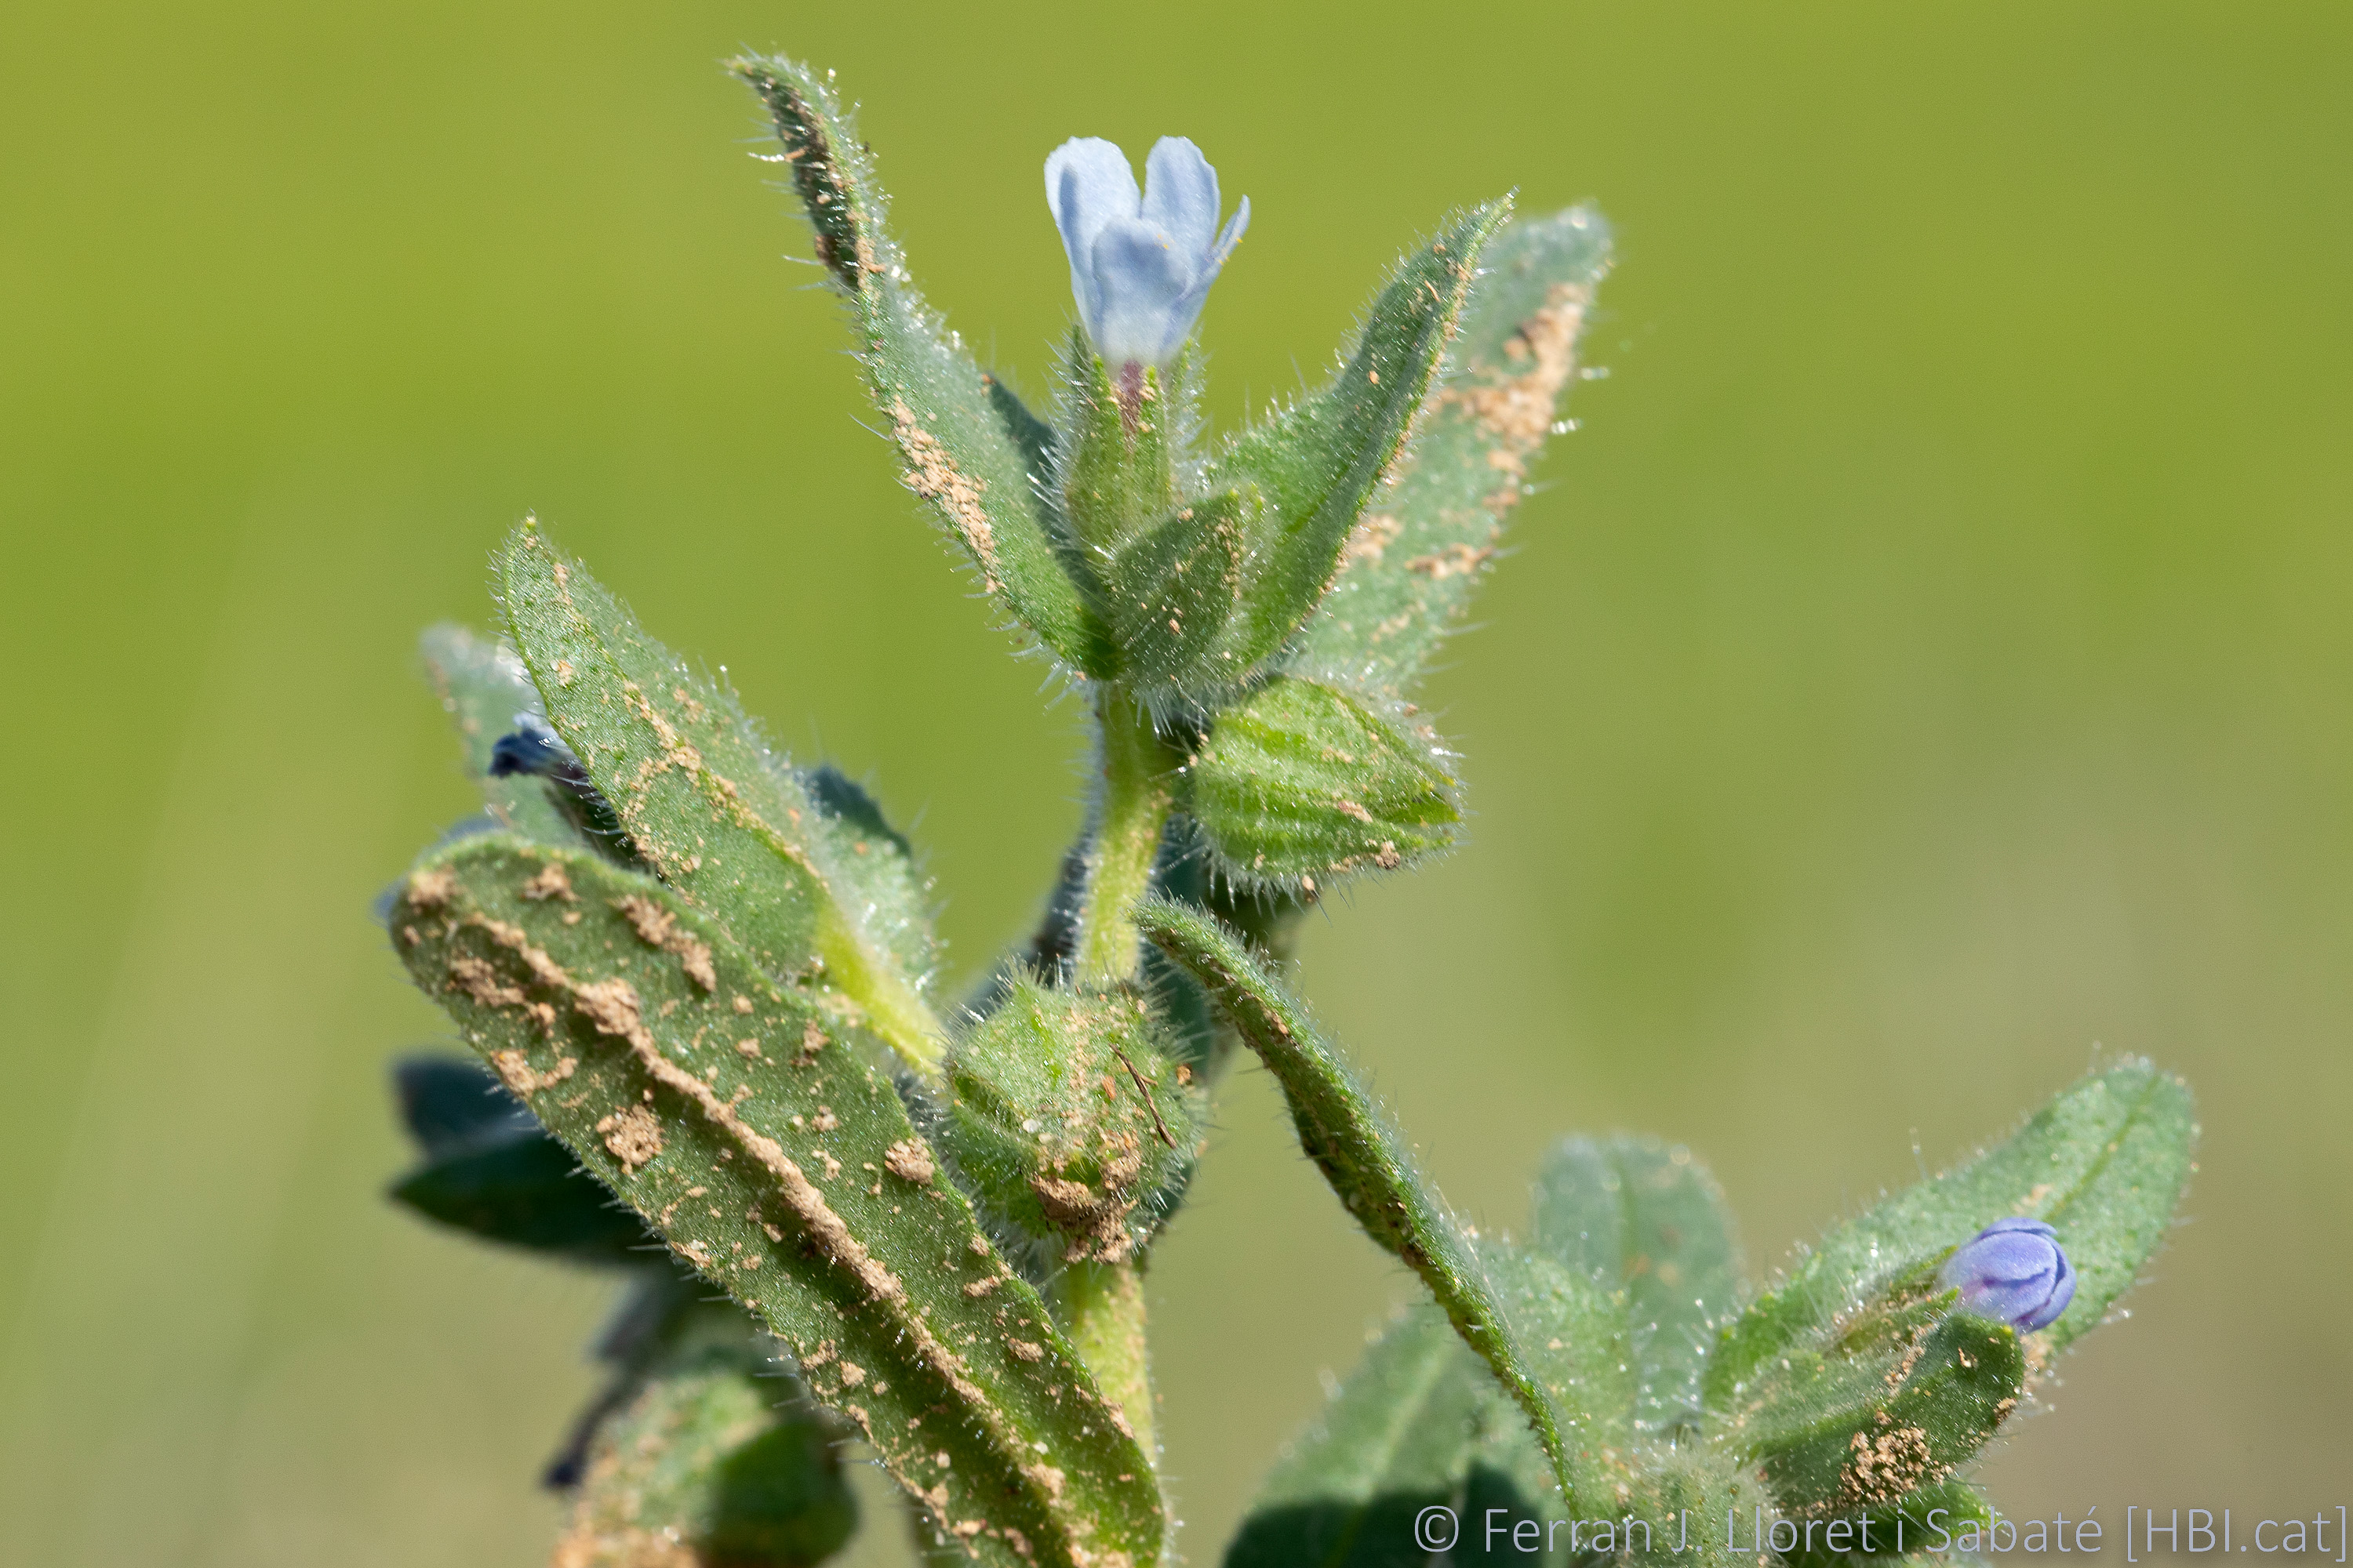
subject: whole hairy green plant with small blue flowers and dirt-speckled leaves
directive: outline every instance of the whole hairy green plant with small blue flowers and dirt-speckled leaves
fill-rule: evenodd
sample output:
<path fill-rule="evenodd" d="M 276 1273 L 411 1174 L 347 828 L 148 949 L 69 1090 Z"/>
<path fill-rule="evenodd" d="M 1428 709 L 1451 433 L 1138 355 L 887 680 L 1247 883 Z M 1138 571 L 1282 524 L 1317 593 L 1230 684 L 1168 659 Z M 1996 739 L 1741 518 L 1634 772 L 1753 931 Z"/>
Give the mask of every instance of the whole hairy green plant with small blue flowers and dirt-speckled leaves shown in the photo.
<path fill-rule="evenodd" d="M 1322 388 L 1212 437 L 1193 334 L 1249 202 L 1181 136 L 1141 183 L 1073 139 L 1040 411 L 915 292 L 831 78 L 734 68 L 906 487 L 1092 715 L 1092 809 L 1038 929 L 948 997 L 908 839 L 536 524 L 499 635 L 426 635 L 485 811 L 386 924 L 473 1056 L 398 1070 L 395 1197 L 626 1281 L 548 1467 L 555 1563 L 824 1561 L 845 1455 L 927 1561 L 1212 1556 L 1174 1535 L 1141 1281 L 1238 1051 L 1428 1300 L 1228 1566 L 1897 1559 L 1984 1521 L 1972 1460 L 2172 1225 L 2177 1079 L 2097 1072 L 1751 1286 L 1706 1166 L 1654 1140 L 1567 1138 L 1518 1239 L 1464 1225 L 1285 978 L 1327 889 L 1457 835 L 1414 686 L 1560 428 L 1600 216 L 1440 219 Z"/>

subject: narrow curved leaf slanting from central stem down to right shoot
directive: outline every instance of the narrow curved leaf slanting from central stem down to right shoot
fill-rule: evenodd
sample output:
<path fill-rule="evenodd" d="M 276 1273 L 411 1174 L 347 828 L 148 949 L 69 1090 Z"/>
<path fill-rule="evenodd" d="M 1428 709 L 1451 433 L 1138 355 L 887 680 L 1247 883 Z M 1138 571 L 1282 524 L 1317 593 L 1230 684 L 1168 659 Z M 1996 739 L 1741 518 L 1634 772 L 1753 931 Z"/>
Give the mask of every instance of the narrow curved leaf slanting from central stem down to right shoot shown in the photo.
<path fill-rule="evenodd" d="M 1299 1145 L 1374 1241 L 1412 1267 L 1527 1413 L 1572 1512 L 1607 1507 L 1633 1408 L 1621 1321 L 1581 1276 L 1475 1241 L 1306 1009 L 1214 919 L 1151 898 L 1136 926 L 1217 1001 L 1282 1086 Z"/>

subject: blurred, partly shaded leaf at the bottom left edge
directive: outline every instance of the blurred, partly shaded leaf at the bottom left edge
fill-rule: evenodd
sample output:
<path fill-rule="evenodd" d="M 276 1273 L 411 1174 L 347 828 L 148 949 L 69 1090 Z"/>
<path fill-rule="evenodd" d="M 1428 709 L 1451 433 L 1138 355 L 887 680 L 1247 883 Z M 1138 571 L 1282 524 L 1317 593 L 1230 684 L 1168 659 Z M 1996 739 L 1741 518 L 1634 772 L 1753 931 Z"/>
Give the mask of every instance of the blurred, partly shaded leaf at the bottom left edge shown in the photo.
<path fill-rule="evenodd" d="M 555 1561 L 807 1568 L 840 1552 L 859 1523 L 845 1434 L 784 1378 L 781 1347 L 732 1307 L 656 1333 L 595 1425 Z"/>

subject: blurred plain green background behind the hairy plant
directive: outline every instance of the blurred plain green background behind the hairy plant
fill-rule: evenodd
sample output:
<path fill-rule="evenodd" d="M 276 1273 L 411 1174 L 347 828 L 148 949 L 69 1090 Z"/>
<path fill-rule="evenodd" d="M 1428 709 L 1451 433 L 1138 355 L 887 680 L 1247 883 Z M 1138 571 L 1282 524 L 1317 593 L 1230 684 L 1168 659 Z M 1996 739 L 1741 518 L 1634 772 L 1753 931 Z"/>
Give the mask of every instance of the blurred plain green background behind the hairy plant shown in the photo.
<path fill-rule="evenodd" d="M 1031 393 L 1038 167 L 1191 134 L 1257 223 L 1214 411 L 1447 205 L 1621 270 L 1433 708 L 1475 837 L 1304 983 L 1449 1194 L 1708 1154 L 1765 1269 L 2099 1053 L 2195 1081 L 2132 1324 L 2012 1512 L 2344 1500 L 2353 12 L 282 0 L 0 42 L 9 677 L 0 1559 L 529 1563 L 602 1286 L 379 1197 L 440 1034 L 369 896 L 468 809 L 414 630 L 525 510 L 939 877 L 1031 919 L 1080 715 L 896 489 L 718 61 L 840 68 L 932 294 Z M 1155 1260 L 1195 1561 L 1409 1281 L 1261 1074 Z M 889 1561 L 899 1530 L 873 1533 Z"/>

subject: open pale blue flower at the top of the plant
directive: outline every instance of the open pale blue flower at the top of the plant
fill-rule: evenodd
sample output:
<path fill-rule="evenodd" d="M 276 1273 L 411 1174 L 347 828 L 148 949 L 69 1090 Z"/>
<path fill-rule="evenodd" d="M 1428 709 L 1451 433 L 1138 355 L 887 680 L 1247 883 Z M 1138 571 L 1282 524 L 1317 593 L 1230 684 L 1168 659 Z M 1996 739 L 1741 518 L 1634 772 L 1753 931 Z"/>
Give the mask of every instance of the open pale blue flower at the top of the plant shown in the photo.
<path fill-rule="evenodd" d="M 1184 136 L 1162 136 L 1144 160 L 1144 190 L 1127 153 L 1073 136 L 1045 160 L 1045 200 L 1071 256 L 1078 317 L 1106 364 L 1167 364 L 1193 334 L 1217 268 L 1249 228 L 1249 197 L 1217 228 L 1217 169 Z"/>

